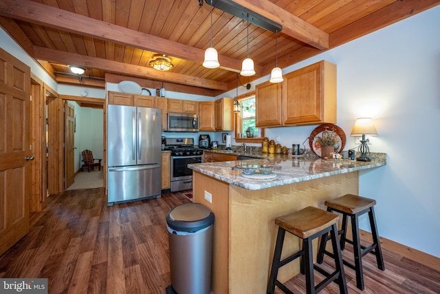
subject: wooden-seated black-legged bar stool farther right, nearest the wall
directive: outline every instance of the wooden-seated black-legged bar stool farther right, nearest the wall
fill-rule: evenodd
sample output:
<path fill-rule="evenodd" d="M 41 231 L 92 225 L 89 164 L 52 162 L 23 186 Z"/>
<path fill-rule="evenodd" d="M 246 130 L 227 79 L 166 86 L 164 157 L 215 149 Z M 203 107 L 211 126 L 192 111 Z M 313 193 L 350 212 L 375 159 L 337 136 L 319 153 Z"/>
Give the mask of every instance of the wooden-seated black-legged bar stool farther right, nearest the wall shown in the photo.
<path fill-rule="evenodd" d="M 382 271 L 385 270 L 384 258 L 382 257 L 382 249 L 380 248 L 379 233 L 377 233 L 376 220 L 374 216 L 374 205 L 376 201 L 369 198 L 364 198 L 356 196 L 353 194 L 347 194 L 340 198 L 327 200 L 325 205 L 327 205 L 327 211 L 337 211 L 342 213 L 342 228 L 338 232 L 340 236 L 340 247 L 341 250 L 345 248 L 345 242 L 353 244 L 355 264 L 351 264 L 344 260 L 344 264 L 354 269 L 356 272 L 356 286 L 360 290 L 364 290 L 364 274 L 362 271 L 362 257 L 366 253 L 373 253 L 376 255 L 377 267 Z M 358 217 L 364 213 L 369 213 L 371 234 L 373 235 L 373 244 L 366 247 L 360 244 L 359 236 L 359 221 Z M 351 232 L 353 235 L 353 240 L 347 239 L 347 220 L 351 218 Z M 327 244 L 328 234 L 322 236 L 319 250 L 318 250 L 318 263 L 321 264 L 324 258 L 324 254 L 333 257 L 333 254 L 325 250 L 325 245 Z"/>

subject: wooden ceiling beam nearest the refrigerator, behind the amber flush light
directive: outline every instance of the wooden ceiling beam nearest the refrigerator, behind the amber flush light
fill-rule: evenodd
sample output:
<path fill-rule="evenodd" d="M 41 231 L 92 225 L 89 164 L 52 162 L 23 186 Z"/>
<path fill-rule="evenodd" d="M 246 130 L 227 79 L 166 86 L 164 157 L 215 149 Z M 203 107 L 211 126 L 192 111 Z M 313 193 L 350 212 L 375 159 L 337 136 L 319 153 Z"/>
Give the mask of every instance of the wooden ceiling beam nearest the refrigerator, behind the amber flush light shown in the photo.
<path fill-rule="evenodd" d="M 81 54 L 69 53 L 39 46 L 34 47 L 34 57 L 54 63 L 76 64 L 89 68 L 100 68 L 107 72 L 118 72 L 129 76 L 148 77 L 152 80 L 168 81 L 182 85 L 191 85 L 194 87 L 203 87 L 213 90 L 228 90 L 228 83 L 208 80 L 206 78 L 197 78 L 196 76 L 186 76 L 174 72 L 159 72 L 150 67 L 131 65 L 118 61 L 109 61 L 97 57 L 85 56 Z"/>

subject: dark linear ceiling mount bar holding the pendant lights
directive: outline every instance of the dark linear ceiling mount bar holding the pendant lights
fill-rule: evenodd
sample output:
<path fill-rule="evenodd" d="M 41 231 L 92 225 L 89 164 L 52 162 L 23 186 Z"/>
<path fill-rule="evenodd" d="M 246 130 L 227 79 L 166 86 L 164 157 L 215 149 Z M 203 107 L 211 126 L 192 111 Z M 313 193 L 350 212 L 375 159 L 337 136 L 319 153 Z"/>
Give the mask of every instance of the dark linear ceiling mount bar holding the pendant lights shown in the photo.
<path fill-rule="evenodd" d="M 228 12 L 236 17 L 241 19 L 248 19 L 248 21 L 254 25 L 259 26 L 265 30 L 270 32 L 281 32 L 283 30 L 283 25 L 268 19 L 267 17 L 263 17 L 263 15 L 258 14 L 240 4 L 234 3 L 234 1 L 230 0 L 205 0 L 206 3 L 214 6 L 215 8 L 219 8 L 224 12 Z"/>

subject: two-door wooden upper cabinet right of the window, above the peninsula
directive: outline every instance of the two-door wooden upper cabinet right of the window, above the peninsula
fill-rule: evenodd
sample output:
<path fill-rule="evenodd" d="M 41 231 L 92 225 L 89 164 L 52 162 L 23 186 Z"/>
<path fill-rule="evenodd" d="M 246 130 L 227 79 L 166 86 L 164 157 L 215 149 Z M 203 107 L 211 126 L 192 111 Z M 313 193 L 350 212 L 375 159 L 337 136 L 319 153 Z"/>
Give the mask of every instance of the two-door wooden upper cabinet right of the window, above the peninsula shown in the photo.
<path fill-rule="evenodd" d="M 320 61 L 256 85 L 256 126 L 336 123 L 336 65 Z"/>

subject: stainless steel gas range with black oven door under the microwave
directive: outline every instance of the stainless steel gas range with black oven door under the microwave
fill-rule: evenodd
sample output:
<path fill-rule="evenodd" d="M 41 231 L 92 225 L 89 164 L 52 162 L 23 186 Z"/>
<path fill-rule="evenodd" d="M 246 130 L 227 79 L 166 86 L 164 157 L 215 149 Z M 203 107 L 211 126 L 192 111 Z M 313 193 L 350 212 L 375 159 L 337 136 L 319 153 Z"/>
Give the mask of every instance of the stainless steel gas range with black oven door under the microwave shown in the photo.
<path fill-rule="evenodd" d="M 194 147 L 193 138 L 165 138 L 165 150 L 171 151 L 171 192 L 192 189 L 190 163 L 201 163 L 203 150 Z"/>

